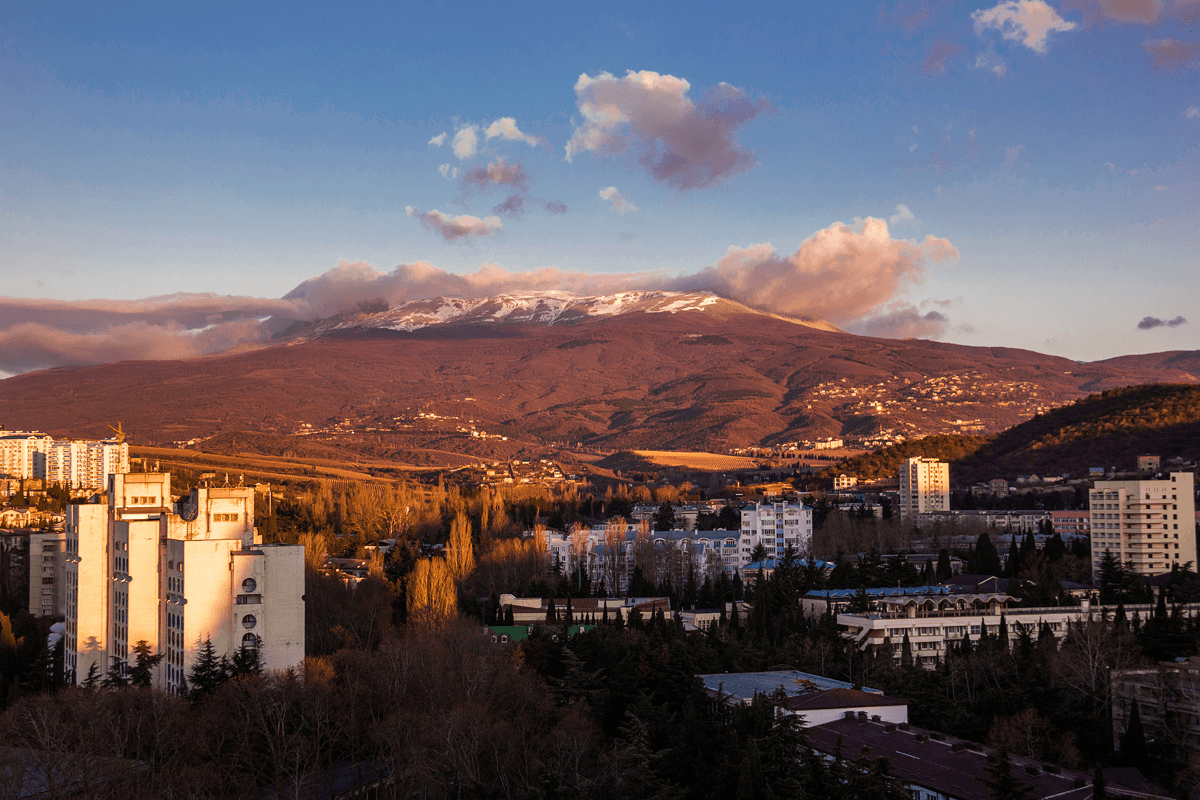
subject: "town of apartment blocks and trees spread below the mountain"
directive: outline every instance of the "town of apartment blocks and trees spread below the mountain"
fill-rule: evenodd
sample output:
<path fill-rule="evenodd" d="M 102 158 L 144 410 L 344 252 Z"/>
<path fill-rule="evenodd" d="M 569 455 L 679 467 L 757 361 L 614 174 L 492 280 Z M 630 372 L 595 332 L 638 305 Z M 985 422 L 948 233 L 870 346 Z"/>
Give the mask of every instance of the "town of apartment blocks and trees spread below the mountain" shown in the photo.
<path fill-rule="evenodd" d="M 725 709 L 731 730 L 768 714 L 779 735 L 803 732 L 787 745 L 797 769 L 864 770 L 904 796 L 990 798 L 1007 775 L 1025 796 L 1175 796 L 1151 778 L 1187 786 L 1200 760 L 1194 463 L 1133 453 L 961 486 L 949 463 L 913 456 L 890 477 L 835 464 L 697 488 L 601 486 L 524 458 L 436 483 L 271 486 L 131 467 L 113 429 L 0 432 L 10 717 L 64 686 L 209 703 L 349 651 L 395 657 L 420 636 L 497 664 L 520 649 L 550 698 L 595 708 L 623 747 L 662 741 L 643 717 L 683 692 Z M 678 663 L 650 667 L 654 643 Z M 634 678 L 630 658 L 649 673 Z M 684 685 L 660 684 L 683 664 Z M 314 753 L 271 783 L 352 764 L 348 792 L 415 780 L 397 753 L 368 751 Z"/>

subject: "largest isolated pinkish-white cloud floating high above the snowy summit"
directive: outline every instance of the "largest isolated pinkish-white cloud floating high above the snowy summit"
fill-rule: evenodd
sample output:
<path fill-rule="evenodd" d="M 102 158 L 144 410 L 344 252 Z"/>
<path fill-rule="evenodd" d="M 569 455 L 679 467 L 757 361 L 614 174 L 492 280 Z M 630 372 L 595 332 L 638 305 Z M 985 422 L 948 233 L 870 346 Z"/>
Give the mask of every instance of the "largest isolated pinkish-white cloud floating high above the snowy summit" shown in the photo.
<path fill-rule="evenodd" d="M 690 90 L 683 78 L 649 71 L 580 76 L 575 95 L 584 122 L 566 143 L 566 160 L 581 152 L 631 156 L 654 180 L 682 191 L 752 169 L 754 154 L 734 134 L 770 104 L 726 83 L 698 103 Z"/>

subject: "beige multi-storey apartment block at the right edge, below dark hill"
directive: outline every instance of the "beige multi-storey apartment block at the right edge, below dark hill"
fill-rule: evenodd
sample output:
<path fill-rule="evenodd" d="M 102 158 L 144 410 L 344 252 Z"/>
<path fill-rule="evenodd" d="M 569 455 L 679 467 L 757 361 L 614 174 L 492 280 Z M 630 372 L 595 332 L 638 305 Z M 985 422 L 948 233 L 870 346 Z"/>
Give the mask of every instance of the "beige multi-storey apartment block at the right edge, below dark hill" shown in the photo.
<path fill-rule="evenodd" d="M 1088 495 L 1092 576 L 1104 553 L 1139 575 L 1196 565 L 1195 487 L 1192 473 L 1153 481 L 1096 481 Z"/>

